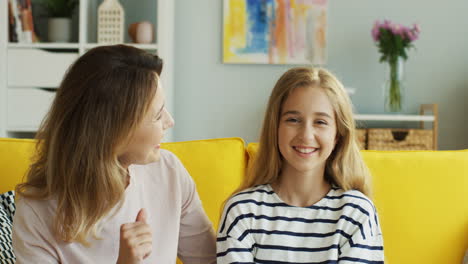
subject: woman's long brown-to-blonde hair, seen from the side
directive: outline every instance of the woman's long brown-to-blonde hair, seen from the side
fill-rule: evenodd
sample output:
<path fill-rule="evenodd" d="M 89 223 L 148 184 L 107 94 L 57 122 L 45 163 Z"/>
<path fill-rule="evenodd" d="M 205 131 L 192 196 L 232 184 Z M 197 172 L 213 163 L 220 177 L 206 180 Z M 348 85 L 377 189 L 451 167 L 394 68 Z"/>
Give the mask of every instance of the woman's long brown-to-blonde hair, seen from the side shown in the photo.
<path fill-rule="evenodd" d="M 149 110 L 162 60 L 124 46 L 97 47 L 68 70 L 36 135 L 26 182 L 16 191 L 57 202 L 54 233 L 89 245 L 123 201 L 127 171 L 117 151 Z"/>

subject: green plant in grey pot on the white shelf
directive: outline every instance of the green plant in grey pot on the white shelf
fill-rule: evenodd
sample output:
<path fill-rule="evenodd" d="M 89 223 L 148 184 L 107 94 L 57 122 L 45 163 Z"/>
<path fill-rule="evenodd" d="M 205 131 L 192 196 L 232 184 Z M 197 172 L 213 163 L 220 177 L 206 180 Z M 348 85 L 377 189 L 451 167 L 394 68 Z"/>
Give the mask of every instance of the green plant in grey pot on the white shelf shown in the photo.
<path fill-rule="evenodd" d="M 78 0 L 43 0 L 49 13 L 48 39 L 50 42 L 70 42 L 71 16 Z"/>

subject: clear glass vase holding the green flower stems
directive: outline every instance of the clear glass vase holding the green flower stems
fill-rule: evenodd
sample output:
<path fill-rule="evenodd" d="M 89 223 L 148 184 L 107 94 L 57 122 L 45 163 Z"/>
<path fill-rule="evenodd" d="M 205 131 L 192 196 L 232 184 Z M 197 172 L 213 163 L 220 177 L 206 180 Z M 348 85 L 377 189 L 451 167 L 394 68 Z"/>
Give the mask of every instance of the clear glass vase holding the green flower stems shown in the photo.
<path fill-rule="evenodd" d="M 387 63 L 386 81 L 384 83 L 385 112 L 401 113 L 405 102 L 405 63 L 403 58 L 390 60 Z"/>

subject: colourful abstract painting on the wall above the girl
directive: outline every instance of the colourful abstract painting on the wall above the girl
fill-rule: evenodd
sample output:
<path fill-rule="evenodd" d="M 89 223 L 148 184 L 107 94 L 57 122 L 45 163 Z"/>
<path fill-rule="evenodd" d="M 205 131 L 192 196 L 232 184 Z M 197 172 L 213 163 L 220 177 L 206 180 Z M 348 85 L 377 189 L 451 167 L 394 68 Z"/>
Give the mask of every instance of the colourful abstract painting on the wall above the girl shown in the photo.
<path fill-rule="evenodd" d="M 224 0 L 224 63 L 326 63 L 327 0 Z"/>

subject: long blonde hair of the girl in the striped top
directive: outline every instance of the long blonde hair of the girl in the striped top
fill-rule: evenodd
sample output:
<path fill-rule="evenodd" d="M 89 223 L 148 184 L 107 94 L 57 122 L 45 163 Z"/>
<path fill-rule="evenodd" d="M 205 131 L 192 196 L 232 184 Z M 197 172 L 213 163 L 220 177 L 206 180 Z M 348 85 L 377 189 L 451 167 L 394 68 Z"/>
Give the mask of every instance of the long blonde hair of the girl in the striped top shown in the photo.
<path fill-rule="evenodd" d="M 337 144 L 326 162 L 325 179 L 343 190 L 358 190 L 370 196 L 370 173 L 356 143 L 351 100 L 341 82 L 322 68 L 293 68 L 284 73 L 270 95 L 260 135 L 259 148 L 246 180 L 236 190 L 273 183 L 280 175 L 283 159 L 278 147 L 282 106 L 298 87 L 323 89 L 332 103 L 337 123 Z"/>

